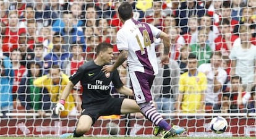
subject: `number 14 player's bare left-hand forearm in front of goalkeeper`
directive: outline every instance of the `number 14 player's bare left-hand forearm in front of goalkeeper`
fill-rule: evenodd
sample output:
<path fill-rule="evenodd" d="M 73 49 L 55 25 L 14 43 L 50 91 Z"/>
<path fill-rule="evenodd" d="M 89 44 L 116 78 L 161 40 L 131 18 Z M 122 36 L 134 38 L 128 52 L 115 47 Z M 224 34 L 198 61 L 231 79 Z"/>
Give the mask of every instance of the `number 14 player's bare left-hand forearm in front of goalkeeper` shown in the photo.
<path fill-rule="evenodd" d="M 116 68 L 118 68 L 122 63 L 124 63 L 127 60 L 128 57 L 128 50 L 121 50 L 120 54 L 117 57 L 116 62 L 113 65 L 105 65 L 102 68 L 103 73 L 110 73 Z"/>

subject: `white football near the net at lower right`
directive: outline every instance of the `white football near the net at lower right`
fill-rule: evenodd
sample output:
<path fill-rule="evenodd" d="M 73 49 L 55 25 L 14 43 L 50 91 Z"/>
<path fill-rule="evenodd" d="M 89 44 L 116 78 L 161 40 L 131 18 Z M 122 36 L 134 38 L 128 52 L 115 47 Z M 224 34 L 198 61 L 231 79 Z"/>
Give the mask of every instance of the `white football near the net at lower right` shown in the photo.
<path fill-rule="evenodd" d="M 211 119 L 210 127 L 214 133 L 223 133 L 228 128 L 228 122 L 224 117 L 214 117 Z"/>

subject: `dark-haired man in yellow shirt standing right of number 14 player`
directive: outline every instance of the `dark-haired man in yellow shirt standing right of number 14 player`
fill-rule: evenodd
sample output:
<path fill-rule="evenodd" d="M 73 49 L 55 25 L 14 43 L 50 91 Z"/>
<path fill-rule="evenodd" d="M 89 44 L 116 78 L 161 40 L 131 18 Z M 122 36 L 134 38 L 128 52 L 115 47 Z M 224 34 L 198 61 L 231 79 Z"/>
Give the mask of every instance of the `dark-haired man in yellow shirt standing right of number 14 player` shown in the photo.
<path fill-rule="evenodd" d="M 197 58 L 194 54 L 189 54 L 187 66 L 189 71 L 179 79 L 179 96 L 175 108 L 178 113 L 205 113 L 207 76 L 197 70 Z"/>

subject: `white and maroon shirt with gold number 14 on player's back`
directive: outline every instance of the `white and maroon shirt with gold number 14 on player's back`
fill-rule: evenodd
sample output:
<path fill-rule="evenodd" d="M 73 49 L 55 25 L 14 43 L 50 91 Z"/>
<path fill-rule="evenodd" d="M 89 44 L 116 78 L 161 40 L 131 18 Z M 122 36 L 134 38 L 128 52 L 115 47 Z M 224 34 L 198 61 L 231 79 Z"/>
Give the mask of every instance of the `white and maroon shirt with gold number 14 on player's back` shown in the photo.
<path fill-rule="evenodd" d="M 160 33 L 155 26 L 133 19 L 127 20 L 117 32 L 117 48 L 129 51 L 130 72 L 158 73 L 154 37 L 158 38 Z"/>

